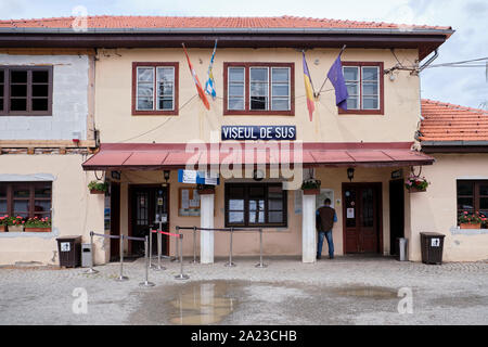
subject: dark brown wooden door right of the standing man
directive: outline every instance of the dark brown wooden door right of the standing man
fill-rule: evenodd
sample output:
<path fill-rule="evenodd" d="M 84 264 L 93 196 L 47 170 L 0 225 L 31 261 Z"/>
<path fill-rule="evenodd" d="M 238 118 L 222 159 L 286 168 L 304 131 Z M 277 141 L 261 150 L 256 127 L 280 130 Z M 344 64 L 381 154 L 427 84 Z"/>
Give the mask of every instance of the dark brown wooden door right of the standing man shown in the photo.
<path fill-rule="evenodd" d="M 344 254 L 380 254 L 382 183 L 343 183 Z"/>

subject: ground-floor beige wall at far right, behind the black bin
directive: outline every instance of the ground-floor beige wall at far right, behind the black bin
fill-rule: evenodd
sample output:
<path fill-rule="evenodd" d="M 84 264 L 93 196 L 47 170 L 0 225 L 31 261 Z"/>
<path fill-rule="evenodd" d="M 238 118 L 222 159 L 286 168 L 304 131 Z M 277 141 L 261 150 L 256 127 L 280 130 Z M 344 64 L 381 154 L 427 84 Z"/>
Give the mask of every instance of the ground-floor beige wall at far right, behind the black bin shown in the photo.
<path fill-rule="evenodd" d="M 422 169 L 432 184 L 425 193 L 410 194 L 409 242 L 411 260 L 421 259 L 421 232 L 446 235 L 446 261 L 488 259 L 488 233 L 457 229 L 457 180 L 488 179 L 488 154 L 434 154 L 436 163 Z"/>

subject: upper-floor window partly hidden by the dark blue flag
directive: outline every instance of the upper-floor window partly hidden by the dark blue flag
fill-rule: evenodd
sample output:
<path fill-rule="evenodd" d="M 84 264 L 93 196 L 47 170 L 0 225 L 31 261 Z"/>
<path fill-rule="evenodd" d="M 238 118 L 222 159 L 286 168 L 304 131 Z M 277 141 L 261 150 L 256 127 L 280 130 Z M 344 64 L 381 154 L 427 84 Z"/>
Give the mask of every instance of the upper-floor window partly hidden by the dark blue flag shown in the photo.
<path fill-rule="evenodd" d="M 383 114 L 383 63 L 343 62 L 347 111 L 339 113 Z"/>

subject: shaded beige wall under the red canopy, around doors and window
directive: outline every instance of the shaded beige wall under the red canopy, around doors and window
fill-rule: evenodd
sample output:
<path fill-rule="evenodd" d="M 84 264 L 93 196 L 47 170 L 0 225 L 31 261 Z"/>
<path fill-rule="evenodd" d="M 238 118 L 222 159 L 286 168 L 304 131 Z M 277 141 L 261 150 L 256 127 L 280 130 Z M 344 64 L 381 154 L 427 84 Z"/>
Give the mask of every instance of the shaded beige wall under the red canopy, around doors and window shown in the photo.
<path fill-rule="evenodd" d="M 395 168 L 357 168 L 354 182 L 381 182 L 383 201 L 383 249 L 382 254 L 389 254 L 389 192 L 388 182 L 391 170 Z M 408 168 L 403 168 L 408 172 Z M 317 170 L 316 177 L 322 181 L 322 189 L 334 190 L 334 200 L 341 200 L 335 204 L 338 221 L 333 229 L 334 248 L 336 255 L 343 254 L 343 215 L 342 215 L 342 183 L 348 182 L 346 168 L 321 168 Z M 123 171 L 121 175 L 121 202 L 120 202 L 120 226 L 124 234 L 128 233 L 128 184 L 163 183 L 162 174 L 158 171 Z M 175 231 L 176 226 L 193 227 L 200 226 L 200 217 L 178 216 L 178 188 L 189 187 L 178 183 L 177 171 L 170 175 L 170 230 Z M 216 189 L 215 197 L 215 228 L 224 227 L 224 181 Z M 301 191 L 288 191 L 288 227 L 267 228 L 264 234 L 264 252 L 266 255 L 301 255 L 301 214 L 295 214 L 295 194 Z M 192 231 L 183 231 L 185 234 L 183 242 L 183 254 L 193 255 Z M 200 235 L 196 242 L 197 255 L 200 255 Z M 126 245 L 127 249 L 127 245 Z M 323 253 L 326 253 L 324 245 Z M 175 255 L 175 241 L 171 239 L 170 254 Z M 236 232 L 233 240 L 234 255 L 258 255 L 259 234 L 256 232 Z M 229 255 L 229 235 L 217 232 L 215 236 L 215 255 Z"/>

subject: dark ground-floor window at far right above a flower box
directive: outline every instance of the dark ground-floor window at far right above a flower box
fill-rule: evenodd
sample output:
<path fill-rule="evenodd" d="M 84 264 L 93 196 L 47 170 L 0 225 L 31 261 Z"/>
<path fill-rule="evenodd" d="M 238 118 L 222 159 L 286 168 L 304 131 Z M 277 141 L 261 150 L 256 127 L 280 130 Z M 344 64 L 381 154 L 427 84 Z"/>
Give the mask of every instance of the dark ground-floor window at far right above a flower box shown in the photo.
<path fill-rule="evenodd" d="M 488 217 L 488 180 L 458 180 L 458 215 L 479 211 Z M 484 224 L 483 228 L 487 228 Z"/>

